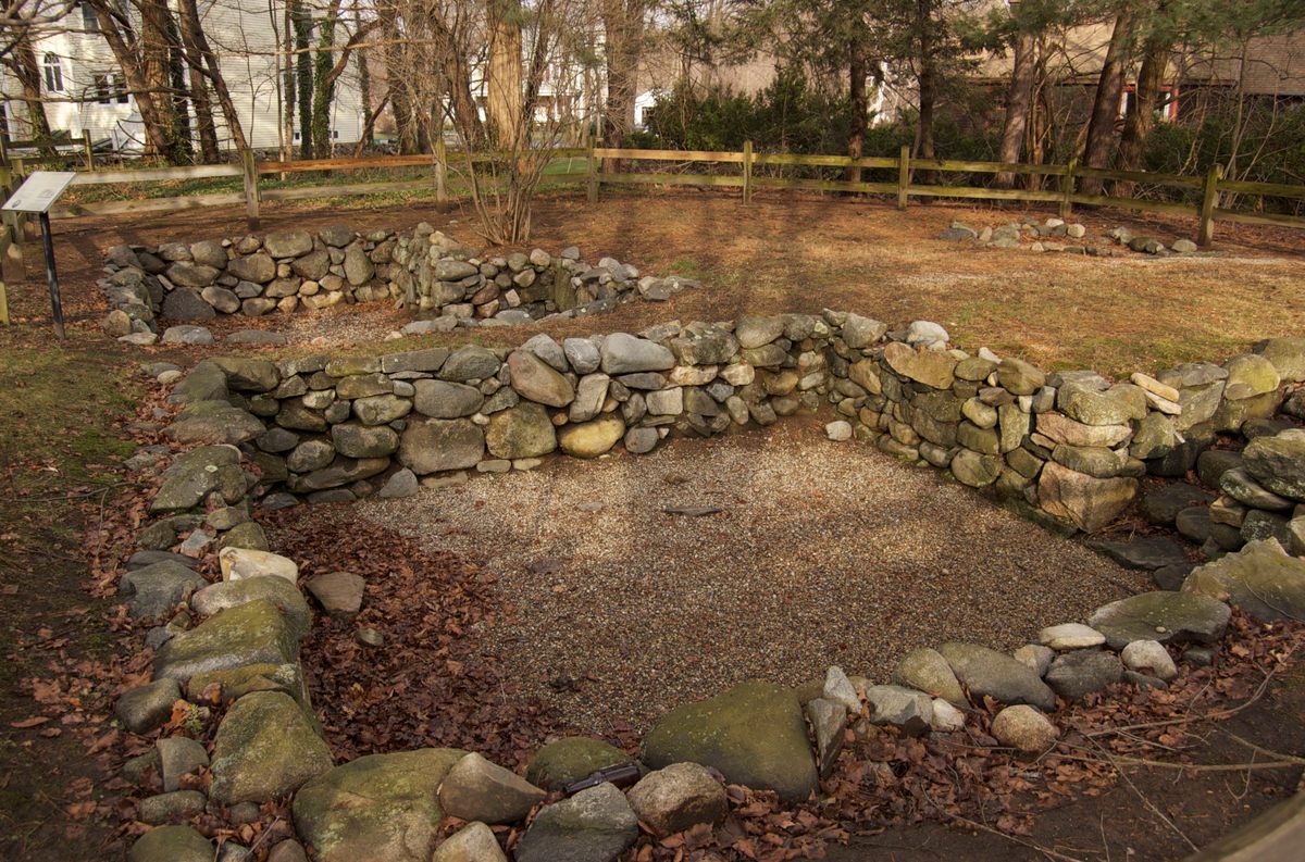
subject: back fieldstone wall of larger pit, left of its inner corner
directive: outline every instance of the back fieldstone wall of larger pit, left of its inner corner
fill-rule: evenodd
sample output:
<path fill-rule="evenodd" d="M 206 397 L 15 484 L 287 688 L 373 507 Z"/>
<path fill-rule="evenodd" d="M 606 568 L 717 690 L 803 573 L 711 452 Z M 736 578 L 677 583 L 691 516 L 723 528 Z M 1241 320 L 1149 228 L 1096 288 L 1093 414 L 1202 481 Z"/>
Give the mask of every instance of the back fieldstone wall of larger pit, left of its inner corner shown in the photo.
<path fill-rule="evenodd" d="M 266 505 L 399 496 L 419 479 L 529 469 L 562 451 L 651 451 L 816 409 L 829 325 L 813 316 L 677 323 L 639 336 L 536 335 L 518 349 L 200 363 L 175 438 L 241 445 Z M 239 413 L 236 416 L 235 413 Z M 282 490 L 283 489 L 283 490 Z"/>

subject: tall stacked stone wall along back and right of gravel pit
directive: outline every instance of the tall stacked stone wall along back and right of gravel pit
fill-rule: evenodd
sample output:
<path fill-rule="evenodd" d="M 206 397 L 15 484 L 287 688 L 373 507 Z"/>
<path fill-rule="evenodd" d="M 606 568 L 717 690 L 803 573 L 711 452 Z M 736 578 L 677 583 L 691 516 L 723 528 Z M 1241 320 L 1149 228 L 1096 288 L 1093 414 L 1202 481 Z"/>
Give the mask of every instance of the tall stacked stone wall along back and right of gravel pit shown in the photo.
<path fill-rule="evenodd" d="M 1305 339 L 1112 383 L 1094 372 L 1047 374 L 985 349 L 970 356 L 946 338 L 924 321 L 890 333 L 867 317 L 825 312 L 561 344 L 536 335 L 517 349 L 214 359 L 188 386 L 209 381 L 209 390 L 226 391 L 230 382 L 236 406 L 192 398 L 200 403 L 171 433 L 240 445 L 262 471 L 265 505 L 275 507 L 295 496 L 398 496 L 419 480 L 529 469 L 557 451 L 643 454 L 669 436 L 711 437 L 833 406 L 842 419 L 831 437 L 855 436 L 1035 518 L 1096 532 L 1134 502 L 1139 479 L 1184 476 L 1218 434 L 1278 430 L 1271 417 L 1305 378 Z M 230 420 L 234 409 L 241 421 Z M 1228 481 L 1219 507 L 1228 518 L 1248 499 L 1268 499 L 1242 473 Z M 1282 511 L 1274 506 L 1266 510 Z M 1262 532 L 1267 522 L 1257 520 Z M 1207 554 L 1240 546 L 1215 533 Z"/>

